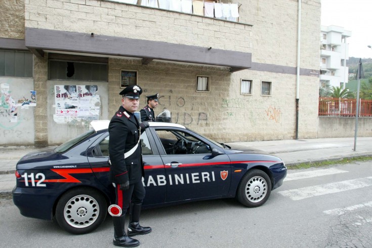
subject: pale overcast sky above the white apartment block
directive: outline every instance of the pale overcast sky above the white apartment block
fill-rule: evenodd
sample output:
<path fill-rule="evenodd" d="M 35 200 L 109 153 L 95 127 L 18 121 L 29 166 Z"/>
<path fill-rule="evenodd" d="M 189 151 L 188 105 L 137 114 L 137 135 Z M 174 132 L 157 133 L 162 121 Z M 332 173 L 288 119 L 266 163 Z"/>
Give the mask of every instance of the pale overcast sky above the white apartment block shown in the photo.
<path fill-rule="evenodd" d="M 349 57 L 372 58 L 372 0 L 321 0 L 321 25 L 351 31 Z"/>

